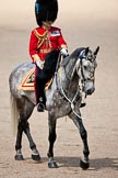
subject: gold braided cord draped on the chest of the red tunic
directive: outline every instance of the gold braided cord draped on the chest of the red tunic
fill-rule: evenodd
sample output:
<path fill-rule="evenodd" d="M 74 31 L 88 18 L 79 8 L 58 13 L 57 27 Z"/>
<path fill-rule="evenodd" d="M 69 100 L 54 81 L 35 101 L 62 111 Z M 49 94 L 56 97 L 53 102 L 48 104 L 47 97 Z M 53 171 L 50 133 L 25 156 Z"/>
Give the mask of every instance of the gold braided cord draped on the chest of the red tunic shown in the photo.
<path fill-rule="evenodd" d="M 43 45 L 45 38 L 47 37 L 48 31 L 46 31 L 44 34 L 39 34 L 39 32 L 35 29 L 34 34 L 38 38 L 37 48 L 39 48 Z"/>

